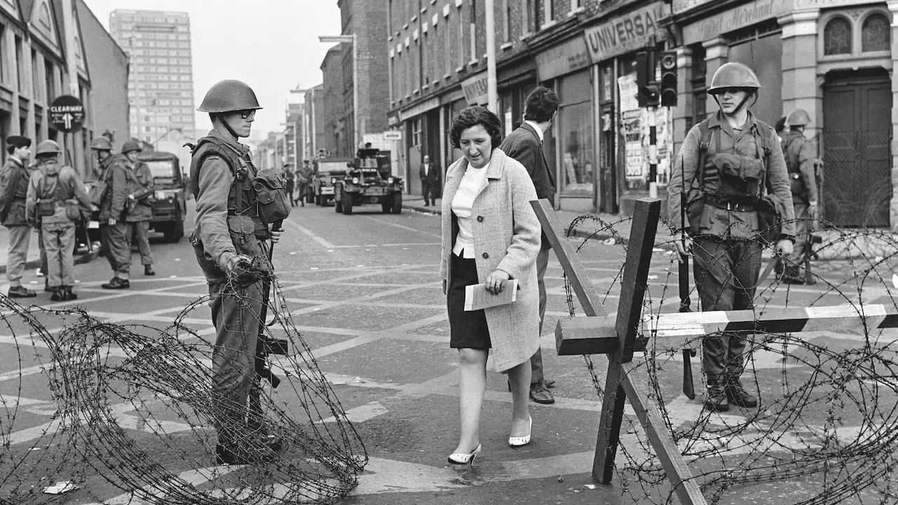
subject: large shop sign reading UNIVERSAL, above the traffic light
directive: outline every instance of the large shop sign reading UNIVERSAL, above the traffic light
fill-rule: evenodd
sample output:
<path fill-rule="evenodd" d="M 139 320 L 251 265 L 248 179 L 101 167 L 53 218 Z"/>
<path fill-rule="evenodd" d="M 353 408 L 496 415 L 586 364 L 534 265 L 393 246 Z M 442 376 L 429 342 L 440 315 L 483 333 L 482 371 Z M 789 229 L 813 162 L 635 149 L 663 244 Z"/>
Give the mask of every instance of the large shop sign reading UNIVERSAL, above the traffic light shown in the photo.
<path fill-rule="evenodd" d="M 656 2 L 585 29 L 586 46 L 593 63 L 644 48 L 652 35 L 657 41 L 665 40 L 665 30 L 658 24 L 665 15 L 664 4 Z"/>

